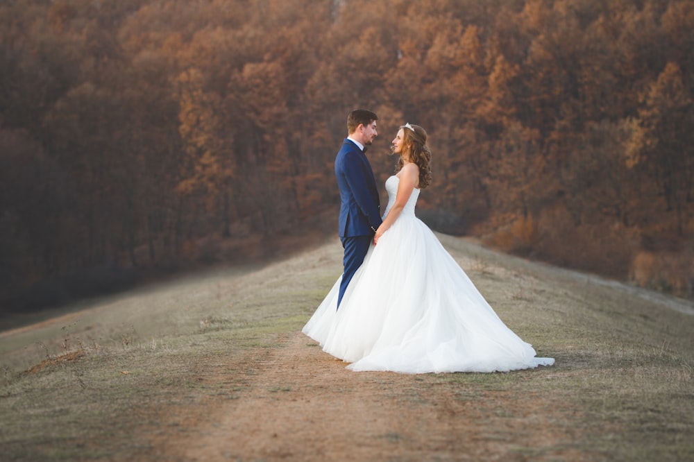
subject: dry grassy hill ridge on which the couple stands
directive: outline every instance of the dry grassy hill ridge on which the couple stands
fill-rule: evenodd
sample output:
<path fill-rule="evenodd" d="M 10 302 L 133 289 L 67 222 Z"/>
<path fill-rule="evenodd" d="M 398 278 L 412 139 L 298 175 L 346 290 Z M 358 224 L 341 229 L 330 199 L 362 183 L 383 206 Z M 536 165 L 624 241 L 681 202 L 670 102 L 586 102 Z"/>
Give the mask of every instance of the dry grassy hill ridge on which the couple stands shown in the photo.
<path fill-rule="evenodd" d="M 344 370 L 298 333 L 341 272 L 341 247 L 329 241 L 0 333 L 0 459 L 206 460 L 185 450 L 203 438 L 226 454 L 219 460 L 339 460 L 322 446 L 336 440 L 312 407 L 292 404 L 316 395 L 320 376 L 339 384 L 333 402 L 371 394 L 384 407 L 364 460 L 694 461 L 694 304 L 439 237 L 505 323 L 555 366 Z M 303 409 L 301 422 L 314 423 L 282 439 L 296 445 L 291 453 L 244 452 L 238 425 L 256 409 Z M 221 413 L 239 416 L 225 427 L 237 441 L 215 436 L 231 425 Z M 358 434 L 372 425 L 366 413 L 345 425 Z"/>

